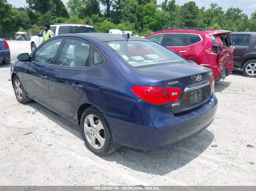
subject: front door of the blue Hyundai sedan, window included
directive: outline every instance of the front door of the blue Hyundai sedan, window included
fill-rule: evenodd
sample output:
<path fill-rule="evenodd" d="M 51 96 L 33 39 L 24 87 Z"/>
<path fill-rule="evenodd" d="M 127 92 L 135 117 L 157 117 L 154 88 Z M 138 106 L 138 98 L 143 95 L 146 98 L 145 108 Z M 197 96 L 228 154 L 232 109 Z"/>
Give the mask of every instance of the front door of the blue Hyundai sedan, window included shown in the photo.
<path fill-rule="evenodd" d="M 23 81 L 27 93 L 34 99 L 52 107 L 48 79 L 63 38 L 48 40 L 35 50 L 31 62 L 23 67 Z"/>

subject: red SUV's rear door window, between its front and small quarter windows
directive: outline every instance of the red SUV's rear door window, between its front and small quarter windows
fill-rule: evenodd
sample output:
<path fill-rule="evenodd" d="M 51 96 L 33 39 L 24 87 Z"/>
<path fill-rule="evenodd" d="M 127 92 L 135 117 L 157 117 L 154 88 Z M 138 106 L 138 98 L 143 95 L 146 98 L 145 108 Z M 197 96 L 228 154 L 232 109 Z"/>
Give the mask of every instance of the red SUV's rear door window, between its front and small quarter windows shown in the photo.
<path fill-rule="evenodd" d="M 167 34 L 165 39 L 165 46 L 188 46 L 189 35 L 171 33 Z"/>

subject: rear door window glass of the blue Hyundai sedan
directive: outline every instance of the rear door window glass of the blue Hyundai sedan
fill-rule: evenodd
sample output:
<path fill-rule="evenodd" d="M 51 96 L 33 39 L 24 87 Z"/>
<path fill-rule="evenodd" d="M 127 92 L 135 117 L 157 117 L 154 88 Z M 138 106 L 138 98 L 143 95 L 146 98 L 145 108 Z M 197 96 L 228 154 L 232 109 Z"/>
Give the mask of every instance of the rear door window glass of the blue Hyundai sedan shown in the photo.
<path fill-rule="evenodd" d="M 58 65 L 72 66 L 72 67 L 87 67 L 89 55 L 89 44 L 81 40 L 67 39 Z"/>

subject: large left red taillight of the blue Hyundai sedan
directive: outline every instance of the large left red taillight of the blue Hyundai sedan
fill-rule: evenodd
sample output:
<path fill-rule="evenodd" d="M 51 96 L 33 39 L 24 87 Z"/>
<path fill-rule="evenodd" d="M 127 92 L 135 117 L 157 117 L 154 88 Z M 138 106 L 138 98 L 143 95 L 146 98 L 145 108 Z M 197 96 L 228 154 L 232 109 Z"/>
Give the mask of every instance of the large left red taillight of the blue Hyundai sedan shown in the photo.
<path fill-rule="evenodd" d="M 152 104 L 175 102 L 181 94 L 180 88 L 165 88 L 152 86 L 133 86 L 131 91 L 142 100 Z"/>

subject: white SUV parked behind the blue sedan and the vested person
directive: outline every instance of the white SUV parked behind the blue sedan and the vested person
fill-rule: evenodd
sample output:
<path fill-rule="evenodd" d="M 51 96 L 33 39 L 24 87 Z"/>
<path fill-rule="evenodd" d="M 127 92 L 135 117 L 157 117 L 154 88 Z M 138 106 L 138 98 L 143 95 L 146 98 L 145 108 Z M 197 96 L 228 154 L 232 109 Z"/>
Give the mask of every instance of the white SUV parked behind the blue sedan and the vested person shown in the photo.
<path fill-rule="evenodd" d="M 96 30 L 93 26 L 72 23 L 56 23 L 51 25 L 50 30 L 52 30 L 55 36 L 68 33 L 96 33 Z M 42 30 L 40 33 L 36 33 L 36 36 L 31 38 L 30 46 L 32 52 L 41 44 L 43 40 L 43 34 L 44 30 Z"/>

